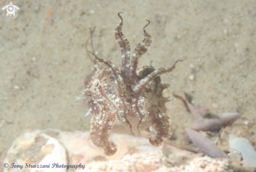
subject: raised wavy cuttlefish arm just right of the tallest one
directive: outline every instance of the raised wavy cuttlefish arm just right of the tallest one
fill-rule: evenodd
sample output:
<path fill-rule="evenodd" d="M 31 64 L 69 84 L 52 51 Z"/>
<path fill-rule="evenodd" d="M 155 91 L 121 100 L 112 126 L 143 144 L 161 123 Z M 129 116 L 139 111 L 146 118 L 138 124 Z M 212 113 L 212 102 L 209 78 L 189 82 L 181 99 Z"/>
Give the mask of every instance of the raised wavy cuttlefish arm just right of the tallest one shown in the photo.
<path fill-rule="evenodd" d="M 152 45 L 151 35 L 145 30 L 145 28 L 147 28 L 150 24 L 150 21 L 149 20 L 147 21 L 148 23 L 142 29 L 144 40 L 136 46 L 132 56 L 132 60 L 131 60 L 129 84 L 132 84 L 132 85 L 138 82 L 138 79 L 136 76 L 136 70 L 139 63 L 139 59 L 144 53 L 149 51 L 149 48 Z"/>

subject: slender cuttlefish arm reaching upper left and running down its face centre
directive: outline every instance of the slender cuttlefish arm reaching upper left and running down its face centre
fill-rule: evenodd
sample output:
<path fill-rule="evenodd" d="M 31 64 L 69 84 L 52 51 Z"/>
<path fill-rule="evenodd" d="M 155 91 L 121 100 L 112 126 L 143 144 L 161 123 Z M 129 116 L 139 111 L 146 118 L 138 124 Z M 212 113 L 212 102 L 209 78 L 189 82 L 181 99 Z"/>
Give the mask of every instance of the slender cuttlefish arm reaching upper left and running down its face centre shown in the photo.
<path fill-rule="evenodd" d="M 117 81 L 118 94 L 119 94 L 119 97 L 120 97 L 120 100 L 121 100 L 121 102 L 118 104 L 119 106 L 121 106 L 121 108 L 120 108 L 121 110 L 118 110 L 118 117 L 119 117 L 121 122 L 123 122 L 124 124 L 129 126 L 130 132 L 133 133 L 132 132 L 132 125 L 130 124 L 130 121 L 127 119 L 127 114 L 129 113 L 130 106 L 129 106 L 129 103 L 126 101 L 125 84 L 124 84 L 123 78 L 120 76 L 120 73 L 119 73 L 118 69 L 109 60 L 100 58 L 95 53 L 90 52 L 88 50 L 86 50 L 86 51 L 91 53 L 94 56 L 94 58 L 96 58 L 96 60 L 98 60 L 99 63 L 103 63 L 104 65 L 109 67 L 109 69 L 111 70 L 115 81 Z M 118 103 L 118 102 L 116 102 L 116 103 Z"/>

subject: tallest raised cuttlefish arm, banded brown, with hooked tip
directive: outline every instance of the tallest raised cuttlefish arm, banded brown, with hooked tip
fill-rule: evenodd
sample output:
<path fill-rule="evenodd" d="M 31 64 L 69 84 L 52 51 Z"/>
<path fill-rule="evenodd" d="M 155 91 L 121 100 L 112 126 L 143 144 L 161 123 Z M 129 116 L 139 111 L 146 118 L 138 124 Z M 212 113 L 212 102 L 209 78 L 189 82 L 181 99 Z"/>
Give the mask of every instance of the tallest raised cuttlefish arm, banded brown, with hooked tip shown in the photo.
<path fill-rule="evenodd" d="M 121 77 L 124 79 L 125 85 L 128 84 L 129 79 L 129 70 L 130 70 L 130 44 L 128 40 L 125 38 L 125 35 L 122 32 L 123 27 L 123 18 L 120 16 L 121 13 L 119 12 L 117 15 L 121 19 L 120 23 L 117 24 L 116 29 L 114 30 L 114 35 L 116 42 L 119 44 L 122 54 L 122 67 L 121 67 Z M 131 91 L 131 90 L 130 90 Z"/>

